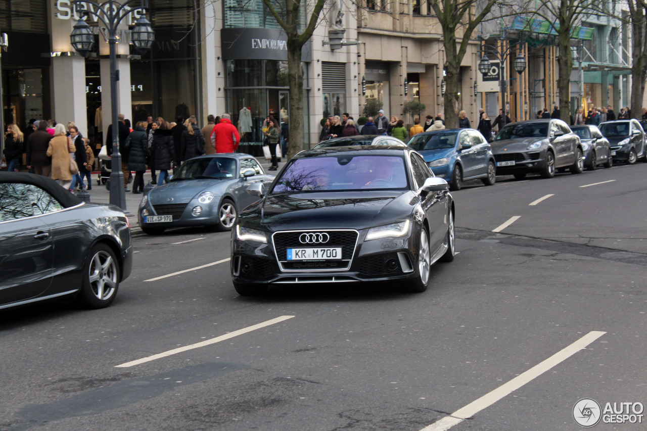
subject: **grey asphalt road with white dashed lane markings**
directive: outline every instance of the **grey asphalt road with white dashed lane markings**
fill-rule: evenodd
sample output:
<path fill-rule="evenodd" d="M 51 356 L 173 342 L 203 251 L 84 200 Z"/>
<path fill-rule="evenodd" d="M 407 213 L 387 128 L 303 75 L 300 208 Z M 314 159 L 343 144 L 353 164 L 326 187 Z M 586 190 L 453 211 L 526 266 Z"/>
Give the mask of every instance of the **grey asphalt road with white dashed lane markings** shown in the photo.
<path fill-rule="evenodd" d="M 422 294 L 242 298 L 229 234 L 139 234 L 112 307 L 0 315 L 0 430 L 582 429 L 582 398 L 647 403 L 646 176 L 454 192 L 459 254 Z"/>

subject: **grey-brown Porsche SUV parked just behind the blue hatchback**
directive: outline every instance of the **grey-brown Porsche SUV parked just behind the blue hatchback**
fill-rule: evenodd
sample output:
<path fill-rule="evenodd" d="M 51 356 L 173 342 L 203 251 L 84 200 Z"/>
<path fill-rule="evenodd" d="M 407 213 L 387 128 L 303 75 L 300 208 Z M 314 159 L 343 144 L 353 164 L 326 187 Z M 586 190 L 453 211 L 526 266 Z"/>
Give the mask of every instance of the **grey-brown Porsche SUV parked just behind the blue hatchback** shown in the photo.
<path fill-rule="evenodd" d="M 584 170 L 580 138 L 557 118 L 507 124 L 491 145 L 497 175 L 523 179 L 527 173 L 539 173 L 552 178 L 556 168 Z"/>

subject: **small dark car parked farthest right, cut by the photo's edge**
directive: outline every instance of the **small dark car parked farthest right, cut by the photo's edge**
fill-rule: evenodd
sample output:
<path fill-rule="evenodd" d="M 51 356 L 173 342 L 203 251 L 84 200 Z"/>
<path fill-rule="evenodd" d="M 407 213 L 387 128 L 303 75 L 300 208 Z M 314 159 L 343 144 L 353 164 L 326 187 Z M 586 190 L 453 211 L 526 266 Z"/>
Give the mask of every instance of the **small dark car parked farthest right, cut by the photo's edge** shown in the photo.
<path fill-rule="evenodd" d="M 638 120 L 606 121 L 598 127 L 611 144 L 614 162 L 634 164 L 638 159 L 647 162 L 645 134 Z"/>

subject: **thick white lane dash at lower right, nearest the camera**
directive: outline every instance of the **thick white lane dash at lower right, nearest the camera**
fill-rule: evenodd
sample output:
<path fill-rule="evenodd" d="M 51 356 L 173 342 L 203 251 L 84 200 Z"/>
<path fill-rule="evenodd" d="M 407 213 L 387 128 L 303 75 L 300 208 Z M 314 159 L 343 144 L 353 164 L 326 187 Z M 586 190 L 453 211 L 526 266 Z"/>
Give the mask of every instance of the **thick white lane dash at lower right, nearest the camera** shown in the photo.
<path fill-rule="evenodd" d="M 589 344 L 602 337 L 606 332 L 602 331 L 591 331 L 584 337 L 580 338 L 570 346 L 558 351 L 553 356 L 549 357 L 543 362 L 540 362 L 536 366 L 532 367 L 530 370 L 527 370 L 509 382 L 504 383 L 490 393 L 486 393 L 483 397 L 473 401 L 470 404 L 467 404 L 465 407 L 456 410 L 452 415 L 443 417 L 443 419 L 432 423 L 432 425 L 422 428 L 421 431 L 446 431 L 452 426 L 457 425 L 463 422 L 468 417 L 472 417 L 484 408 L 491 406 L 496 403 L 506 395 L 518 390 L 524 384 L 531 382 L 536 379 L 546 371 L 550 370 L 560 362 L 569 359 L 571 356 L 575 355 L 581 349 L 586 348 Z"/>

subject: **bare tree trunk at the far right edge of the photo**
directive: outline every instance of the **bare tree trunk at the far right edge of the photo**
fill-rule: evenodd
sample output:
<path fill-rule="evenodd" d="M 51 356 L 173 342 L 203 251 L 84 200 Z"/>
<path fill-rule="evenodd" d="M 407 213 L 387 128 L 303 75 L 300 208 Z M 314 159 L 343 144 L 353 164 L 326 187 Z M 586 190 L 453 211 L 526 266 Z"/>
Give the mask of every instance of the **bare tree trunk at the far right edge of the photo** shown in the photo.
<path fill-rule="evenodd" d="M 631 19 L 631 113 L 633 118 L 642 118 L 642 98 L 647 79 L 647 3 L 644 0 L 628 0 Z"/>

